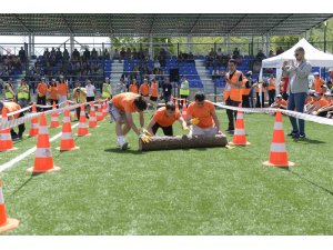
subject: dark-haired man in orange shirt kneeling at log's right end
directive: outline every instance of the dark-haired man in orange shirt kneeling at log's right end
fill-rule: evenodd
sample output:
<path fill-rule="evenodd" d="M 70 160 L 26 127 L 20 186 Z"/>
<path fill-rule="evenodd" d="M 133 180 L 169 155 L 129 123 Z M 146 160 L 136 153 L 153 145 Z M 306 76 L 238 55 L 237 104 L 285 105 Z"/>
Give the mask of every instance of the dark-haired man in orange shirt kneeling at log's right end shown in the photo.
<path fill-rule="evenodd" d="M 206 137 L 222 134 L 215 107 L 211 101 L 204 99 L 204 93 L 195 93 L 195 102 L 188 108 L 186 122 L 192 124 L 189 134 Z"/>

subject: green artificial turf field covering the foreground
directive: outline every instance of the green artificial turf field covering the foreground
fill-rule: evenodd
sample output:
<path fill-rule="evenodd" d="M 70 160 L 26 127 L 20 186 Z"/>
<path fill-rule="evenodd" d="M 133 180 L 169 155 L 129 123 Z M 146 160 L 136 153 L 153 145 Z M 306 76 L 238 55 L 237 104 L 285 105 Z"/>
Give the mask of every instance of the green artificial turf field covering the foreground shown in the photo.
<path fill-rule="evenodd" d="M 224 131 L 225 110 L 218 113 Z M 332 127 L 306 122 L 307 139 L 285 138 L 295 162 L 285 170 L 262 164 L 274 117 L 245 114 L 244 120 L 251 146 L 232 150 L 139 152 L 131 131 L 131 149 L 120 151 L 109 118 L 90 129 L 90 137 L 74 137 L 79 150 L 60 153 L 58 139 L 51 146 L 61 171 L 29 174 L 33 153 L 0 173 L 7 213 L 20 220 L 6 234 L 333 234 Z M 285 116 L 283 123 L 287 133 Z M 50 138 L 60 131 L 49 129 Z M 182 133 L 178 122 L 174 131 Z M 1 152 L 0 164 L 36 140 L 16 142 L 19 150 Z"/>

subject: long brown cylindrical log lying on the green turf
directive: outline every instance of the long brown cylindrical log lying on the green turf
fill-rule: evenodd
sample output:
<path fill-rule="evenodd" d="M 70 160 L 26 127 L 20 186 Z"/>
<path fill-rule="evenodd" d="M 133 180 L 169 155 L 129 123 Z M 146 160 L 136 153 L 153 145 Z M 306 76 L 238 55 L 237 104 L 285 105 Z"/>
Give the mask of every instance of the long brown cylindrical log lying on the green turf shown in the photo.
<path fill-rule="evenodd" d="M 191 148 L 213 148 L 225 147 L 228 144 L 226 137 L 224 134 L 216 134 L 215 137 L 152 137 L 152 141 L 143 143 L 139 139 L 140 151 L 152 150 L 169 150 L 169 149 L 191 149 Z"/>

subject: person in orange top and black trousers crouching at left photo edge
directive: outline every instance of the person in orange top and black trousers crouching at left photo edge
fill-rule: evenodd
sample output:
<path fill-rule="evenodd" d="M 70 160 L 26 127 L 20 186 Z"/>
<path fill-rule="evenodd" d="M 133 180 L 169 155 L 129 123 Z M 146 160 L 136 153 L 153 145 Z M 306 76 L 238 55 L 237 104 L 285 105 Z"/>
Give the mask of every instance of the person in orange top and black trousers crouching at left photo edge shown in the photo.
<path fill-rule="evenodd" d="M 0 114 L 2 116 L 2 109 L 7 110 L 7 113 L 11 113 L 14 111 L 18 111 L 21 109 L 21 107 L 13 102 L 13 101 L 8 101 L 8 102 L 2 102 L 0 101 Z M 24 112 L 20 112 L 20 113 L 16 113 L 13 116 L 8 117 L 8 120 L 12 120 L 12 119 L 18 119 L 24 116 Z M 24 123 L 21 123 L 18 126 L 19 127 L 19 132 L 17 133 L 13 129 L 10 129 L 10 134 L 11 134 L 11 140 L 12 141 L 17 141 L 17 140 L 21 140 L 23 132 L 26 130 L 26 126 Z"/>

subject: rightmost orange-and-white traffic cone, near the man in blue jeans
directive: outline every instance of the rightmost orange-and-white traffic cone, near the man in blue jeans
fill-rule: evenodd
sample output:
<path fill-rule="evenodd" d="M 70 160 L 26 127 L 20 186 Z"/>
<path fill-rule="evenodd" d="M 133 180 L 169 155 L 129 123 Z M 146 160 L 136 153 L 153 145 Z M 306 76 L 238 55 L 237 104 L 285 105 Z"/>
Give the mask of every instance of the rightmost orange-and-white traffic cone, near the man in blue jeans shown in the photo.
<path fill-rule="evenodd" d="M 287 161 L 285 142 L 284 142 L 284 131 L 282 124 L 282 114 L 278 110 L 275 116 L 273 140 L 271 143 L 271 153 L 270 160 L 263 162 L 265 166 L 275 166 L 275 167 L 291 167 L 294 166 L 293 162 Z"/>

